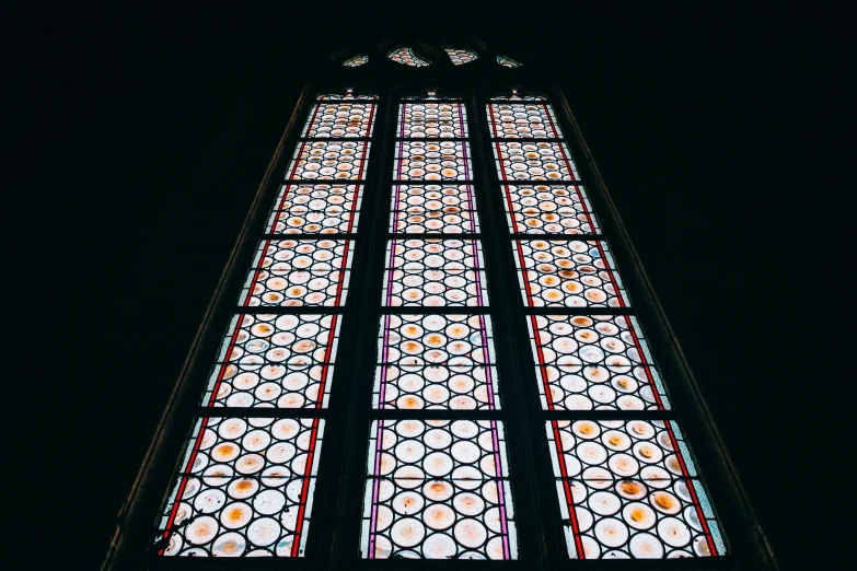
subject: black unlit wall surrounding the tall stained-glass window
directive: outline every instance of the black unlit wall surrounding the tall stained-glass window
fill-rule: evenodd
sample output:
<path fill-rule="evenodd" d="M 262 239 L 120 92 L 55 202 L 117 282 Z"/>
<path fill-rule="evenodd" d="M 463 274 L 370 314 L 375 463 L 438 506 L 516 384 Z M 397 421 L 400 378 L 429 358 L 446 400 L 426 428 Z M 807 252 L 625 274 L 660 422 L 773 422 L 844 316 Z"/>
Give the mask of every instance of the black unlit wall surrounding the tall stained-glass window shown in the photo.
<path fill-rule="evenodd" d="M 554 62 L 783 568 L 835 564 L 854 533 L 844 14 L 306 3 L 12 7 L 7 553 L 97 567 L 311 56 L 395 26 Z"/>

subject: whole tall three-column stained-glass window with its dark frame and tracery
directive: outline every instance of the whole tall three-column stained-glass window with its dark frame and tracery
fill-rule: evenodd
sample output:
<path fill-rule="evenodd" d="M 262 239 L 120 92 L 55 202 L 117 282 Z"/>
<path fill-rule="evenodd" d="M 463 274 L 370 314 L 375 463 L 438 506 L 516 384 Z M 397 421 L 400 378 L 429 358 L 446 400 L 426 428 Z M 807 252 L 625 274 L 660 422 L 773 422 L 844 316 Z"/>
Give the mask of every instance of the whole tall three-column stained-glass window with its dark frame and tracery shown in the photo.
<path fill-rule="evenodd" d="M 105 569 L 774 569 L 549 66 L 349 49 L 303 92 Z"/>

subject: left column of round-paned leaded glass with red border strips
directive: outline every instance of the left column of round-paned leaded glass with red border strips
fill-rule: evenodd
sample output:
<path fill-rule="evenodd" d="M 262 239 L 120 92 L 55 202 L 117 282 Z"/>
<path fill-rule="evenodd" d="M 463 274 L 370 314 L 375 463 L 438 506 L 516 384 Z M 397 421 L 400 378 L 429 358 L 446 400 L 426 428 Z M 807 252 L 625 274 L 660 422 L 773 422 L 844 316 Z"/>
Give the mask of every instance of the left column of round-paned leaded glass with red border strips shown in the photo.
<path fill-rule="evenodd" d="M 355 241 L 340 236 L 357 228 L 377 97 L 348 90 L 317 101 L 162 512 L 160 556 L 304 555 L 343 316 L 288 312 L 345 304 Z M 278 313 L 242 313 L 253 305 Z M 278 413 L 255 418 L 252 411 L 263 408 Z M 317 416 L 289 416 L 300 408 Z"/>

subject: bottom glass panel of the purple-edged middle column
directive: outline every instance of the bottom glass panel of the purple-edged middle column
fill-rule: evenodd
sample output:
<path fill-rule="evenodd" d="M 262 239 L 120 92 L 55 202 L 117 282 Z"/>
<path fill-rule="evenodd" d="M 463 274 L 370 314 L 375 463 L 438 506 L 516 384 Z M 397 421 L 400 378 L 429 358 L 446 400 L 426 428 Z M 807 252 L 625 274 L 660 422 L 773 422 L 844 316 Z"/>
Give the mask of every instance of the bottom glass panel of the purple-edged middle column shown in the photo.
<path fill-rule="evenodd" d="M 362 556 L 517 559 L 501 422 L 372 423 Z"/>

